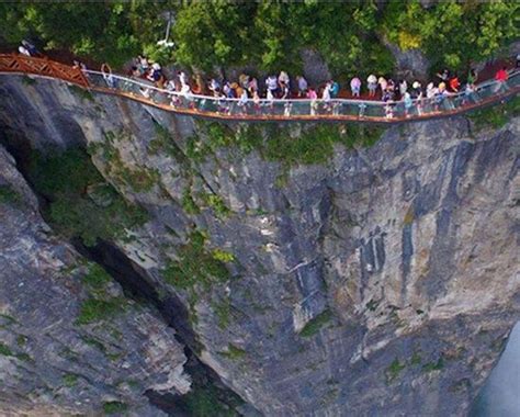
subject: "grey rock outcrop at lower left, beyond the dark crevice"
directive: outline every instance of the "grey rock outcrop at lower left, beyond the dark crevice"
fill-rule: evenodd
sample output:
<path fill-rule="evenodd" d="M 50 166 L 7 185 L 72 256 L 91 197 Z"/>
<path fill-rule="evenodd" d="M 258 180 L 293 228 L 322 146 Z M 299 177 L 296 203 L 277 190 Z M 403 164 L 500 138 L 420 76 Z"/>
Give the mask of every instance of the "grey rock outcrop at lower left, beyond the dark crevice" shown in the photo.
<path fill-rule="evenodd" d="M 99 415 L 112 406 L 159 416 L 146 391 L 190 390 L 174 331 L 156 312 L 124 300 L 118 284 L 89 288 L 93 267 L 54 236 L 1 147 L 0 218 L 0 414 Z M 121 312 L 79 323 L 93 291 L 117 300 Z"/>

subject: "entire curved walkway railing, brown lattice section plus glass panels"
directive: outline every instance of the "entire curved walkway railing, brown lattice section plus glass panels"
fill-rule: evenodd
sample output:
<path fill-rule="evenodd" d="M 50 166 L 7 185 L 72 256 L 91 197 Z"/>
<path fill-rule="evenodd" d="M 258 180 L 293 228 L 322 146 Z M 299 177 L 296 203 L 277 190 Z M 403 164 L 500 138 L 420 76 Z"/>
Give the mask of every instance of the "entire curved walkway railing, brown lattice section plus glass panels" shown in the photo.
<path fill-rule="evenodd" d="M 472 93 L 459 92 L 442 98 L 381 102 L 349 99 L 259 100 L 214 98 L 160 89 L 146 80 L 93 70 L 81 70 L 46 58 L 0 55 L 0 75 L 32 75 L 59 79 L 100 93 L 125 97 L 147 105 L 191 116 L 241 122 L 358 122 L 397 124 L 448 117 L 485 108 L 520 92 L 520 71 L 512 70 L 507 81 L 489 80 L 475 86 Z"/>

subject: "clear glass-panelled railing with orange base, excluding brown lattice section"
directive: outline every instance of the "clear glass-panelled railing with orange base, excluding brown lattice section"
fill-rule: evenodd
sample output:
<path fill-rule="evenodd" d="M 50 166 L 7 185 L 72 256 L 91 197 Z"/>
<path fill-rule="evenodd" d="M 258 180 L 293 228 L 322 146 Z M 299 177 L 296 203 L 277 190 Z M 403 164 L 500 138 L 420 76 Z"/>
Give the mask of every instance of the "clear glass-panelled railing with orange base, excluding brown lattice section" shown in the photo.
<path fill-rule="evenodd" d="M 360 120 L 402 121 L 452 114 L 487 104 L 494 99 L 516 94 L 520 90 L 520 71 L 511 71 L 505 82 L 489 80 L 475 86 L 471 92 L 462 91 L 433 98 L 402 101 L 368 101 L 350 99 L 248 99 L 215 98 L 160 89 L 143 79 L 114 74 L 84 71 L 90 86 L 102 90 L 124 92 L 172 111 L 218 116 L 233 120 Z"/>

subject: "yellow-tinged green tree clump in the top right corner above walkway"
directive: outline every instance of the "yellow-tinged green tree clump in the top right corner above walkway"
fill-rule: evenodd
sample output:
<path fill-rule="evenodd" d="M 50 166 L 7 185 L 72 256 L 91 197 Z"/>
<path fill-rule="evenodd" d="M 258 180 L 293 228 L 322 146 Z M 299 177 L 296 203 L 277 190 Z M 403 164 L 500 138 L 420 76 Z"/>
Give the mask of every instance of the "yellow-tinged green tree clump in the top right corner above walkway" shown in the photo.
<path fill-rule="evenodd" d="M 520 3 L 515 1 L 388 1 L 382 31 L 402 49 L 419 48 L 434 67 L 463 69 L 518 37 Z"/>

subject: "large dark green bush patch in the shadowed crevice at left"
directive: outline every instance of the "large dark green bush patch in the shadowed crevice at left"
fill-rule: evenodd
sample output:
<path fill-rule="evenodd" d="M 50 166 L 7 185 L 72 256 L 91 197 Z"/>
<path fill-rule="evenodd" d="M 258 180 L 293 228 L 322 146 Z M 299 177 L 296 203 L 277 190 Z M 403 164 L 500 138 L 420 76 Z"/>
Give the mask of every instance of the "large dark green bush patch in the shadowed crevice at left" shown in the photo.
<path fill-rule="evenodd" d="M 49 204 L 44 216 L 68 238 L 92 246 L 98 239 L 124 238 L 126 229 L 147 221 L 146 212 L 126 202 L 106 183 L 81 148 L 34 153 L 30 180 Z"/>

